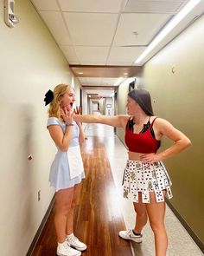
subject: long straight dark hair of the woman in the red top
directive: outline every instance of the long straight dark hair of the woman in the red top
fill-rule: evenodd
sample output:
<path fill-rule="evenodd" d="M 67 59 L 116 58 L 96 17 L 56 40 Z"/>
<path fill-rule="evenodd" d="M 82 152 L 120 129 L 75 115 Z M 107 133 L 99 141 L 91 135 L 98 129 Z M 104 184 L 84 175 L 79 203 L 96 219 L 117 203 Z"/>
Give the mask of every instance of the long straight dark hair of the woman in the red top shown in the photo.
<path fill-rule="evenodd" d="M 145 89 L 133 89 L 128 94 L 139 106 L 143 109 L 147 115 L 154 115 L 151 105 L 150 93 Z"/>

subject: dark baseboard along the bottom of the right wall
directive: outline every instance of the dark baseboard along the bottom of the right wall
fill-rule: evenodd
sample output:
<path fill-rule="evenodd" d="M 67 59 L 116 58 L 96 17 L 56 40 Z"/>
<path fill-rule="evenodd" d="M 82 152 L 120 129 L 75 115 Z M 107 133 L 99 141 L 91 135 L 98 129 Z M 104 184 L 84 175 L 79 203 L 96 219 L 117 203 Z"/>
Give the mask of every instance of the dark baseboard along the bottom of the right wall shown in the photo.
<path fill-rule="evenodd" d="M 169 200 L 166 200 L 167 205 L 171 209 L 171 211 L 175 214 L 176 218 L 182 223 L 182 226 L 186 229 L 188 234 L 191 236 L 191 238 L 194 240 L 197 246 L 201 249 L 201 252 L 204 253 L 204 245 L 202 241 L 196 236 L 196 234 L 193 232 L 193 230 L 188 226 L 188 223 L 182 218 L 182 216 L 176 211 L 175 207 L 172 206 L 172 204 L 169 202 Z"/>

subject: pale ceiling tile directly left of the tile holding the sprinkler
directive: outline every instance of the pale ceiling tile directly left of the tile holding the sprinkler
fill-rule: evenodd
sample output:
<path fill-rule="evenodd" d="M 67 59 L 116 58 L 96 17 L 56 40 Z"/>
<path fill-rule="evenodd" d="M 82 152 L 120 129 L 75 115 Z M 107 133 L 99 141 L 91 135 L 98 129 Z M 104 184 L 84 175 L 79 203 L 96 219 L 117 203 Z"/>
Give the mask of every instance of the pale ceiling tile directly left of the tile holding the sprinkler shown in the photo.
<path fill-rule="evenodd" d="M 109 46 L 116 30 L 117 14 L 64 13 L 74 45 Z"/>

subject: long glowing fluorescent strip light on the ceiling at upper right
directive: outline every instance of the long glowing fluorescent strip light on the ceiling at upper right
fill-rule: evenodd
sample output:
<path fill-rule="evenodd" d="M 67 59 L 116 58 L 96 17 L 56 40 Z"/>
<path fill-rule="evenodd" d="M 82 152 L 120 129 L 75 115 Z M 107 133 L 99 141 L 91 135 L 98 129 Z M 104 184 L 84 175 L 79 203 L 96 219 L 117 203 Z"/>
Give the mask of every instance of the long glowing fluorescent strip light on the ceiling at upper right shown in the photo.
<path fill-rule="evenodd" d="M 163 30 L 155 37 L 155 39 L 149 44 L 149 46 L 143 51 L 142 55 L 137 58 L 135 63 L 139 63 L 143 60 L 145 56 L 147 56 L 152 49 L 156 47 L 156 44 L 163 40 L 164 36 L 167 36 L 171 30 L 175 28 L 175 26 L 182 21 L 184 16 L 188 14 L 190 10 L 193 10 L 194 7 L 201 2 L 201 0 L 191 0 L 189 1 L 183 9 L 174 17 L 169 23 L 163 28 Z"/>

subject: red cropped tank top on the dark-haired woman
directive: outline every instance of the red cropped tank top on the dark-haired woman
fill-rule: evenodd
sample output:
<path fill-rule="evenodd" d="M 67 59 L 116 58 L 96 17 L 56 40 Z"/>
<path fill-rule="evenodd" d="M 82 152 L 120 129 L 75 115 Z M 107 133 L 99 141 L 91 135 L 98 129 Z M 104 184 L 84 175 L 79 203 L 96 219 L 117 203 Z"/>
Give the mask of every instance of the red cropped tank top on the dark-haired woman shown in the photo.
<path fill-rule="evenodd" d="M 157 141 L 150 133 L 150 129 L 156 118 L 151 122 L 150 127 L 143 132 L 143 134 L 132 133 L 128 125 L 130 120 L 127 122 L 124 141 L 131 152 L 143 154 L 156 153 L 157 149 L 160 147 L 160 141 Z"/>

